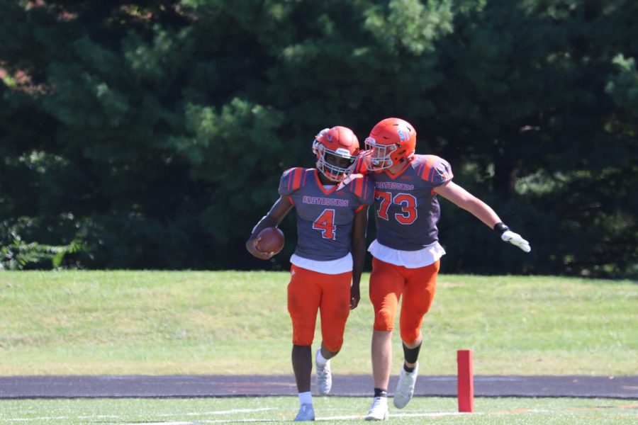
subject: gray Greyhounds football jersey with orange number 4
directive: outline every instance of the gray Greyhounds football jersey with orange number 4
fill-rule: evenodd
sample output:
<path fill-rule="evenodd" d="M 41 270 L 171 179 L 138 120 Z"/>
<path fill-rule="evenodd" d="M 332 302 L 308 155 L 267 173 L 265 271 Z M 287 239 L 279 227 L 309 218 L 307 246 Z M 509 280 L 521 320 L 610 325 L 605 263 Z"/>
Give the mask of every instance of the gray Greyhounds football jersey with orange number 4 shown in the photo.
<path fill-rule="evenodd" d="M 288 196 L 295 205 L 295 254 L 330 261 L 350 252 L 354 214 L 374 202 L 374 186 L 369 177 L 359 174 L 326 190 L 317 170 L 292 168 L 281 176 L 279 195 Z"/>

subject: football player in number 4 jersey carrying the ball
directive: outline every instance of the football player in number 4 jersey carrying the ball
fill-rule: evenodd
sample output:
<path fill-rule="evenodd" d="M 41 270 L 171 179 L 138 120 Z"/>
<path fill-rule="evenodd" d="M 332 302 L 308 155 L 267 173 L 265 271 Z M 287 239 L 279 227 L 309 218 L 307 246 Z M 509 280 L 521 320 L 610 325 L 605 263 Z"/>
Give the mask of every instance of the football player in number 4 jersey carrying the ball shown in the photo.
<path fill-rule="evenodd" d="M 374 187 L 362 174 L 352 174 L 359 141 L 352 130 L 321 130 L 313 141 L 316 169 L 291 168 L 279 183 L 279 199 L 252 229 L 250 254 L 270 259 L 258 249 L 257 235 L 276 227 L 294 207 L 297 246 L 291 256 L 288 311 L 293 325 L 292 365 L 299 392 L 296 421 L 315 419 L 310 373 L 317 312 L 323 341 L 315 353 L 316 387 L 328 395 L 332 385 L 330 358 L 343 344 L 349 310 L 359 304 L 359 280 L 366 255 L 368 207 Z"/>

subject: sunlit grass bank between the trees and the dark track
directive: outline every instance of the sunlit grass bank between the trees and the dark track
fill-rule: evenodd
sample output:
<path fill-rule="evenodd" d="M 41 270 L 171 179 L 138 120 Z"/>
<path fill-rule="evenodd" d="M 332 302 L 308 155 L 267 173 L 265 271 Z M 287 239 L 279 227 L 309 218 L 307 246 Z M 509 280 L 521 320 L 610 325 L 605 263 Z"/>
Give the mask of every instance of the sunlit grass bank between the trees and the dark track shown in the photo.
<path fill-rule="evenodd" d="M 0 375 L 291 373 L 288 278 L 0 272 Z M 367 278 L 335 373 L 371 371 Z M 421 373 L 454 374 L 457 349 L 471 348 L 477 375 L 634 375 L 637 301 L 627 280 L 442 275 L 422 327 Z"/>

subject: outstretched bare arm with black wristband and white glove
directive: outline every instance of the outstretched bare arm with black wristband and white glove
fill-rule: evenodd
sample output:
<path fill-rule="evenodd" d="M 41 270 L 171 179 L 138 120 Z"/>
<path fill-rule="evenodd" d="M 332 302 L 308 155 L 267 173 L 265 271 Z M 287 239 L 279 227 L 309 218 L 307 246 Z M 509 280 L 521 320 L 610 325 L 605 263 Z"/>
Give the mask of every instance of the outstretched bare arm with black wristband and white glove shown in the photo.
<path fill-rule="evenodd" d="M 488 227 L 498 232 L 500 234 L 500 239 L 503 239 L 503 241 L 510 242 L 510 244 L 518 246 L 525 252 L 530 252 L 532 250 L 530 248 L 530 243 L 523 239 L 520 234 L 512 232 L 509 227 L 505 226 L 503 222 L 500 221 L 498 215 L 496 215 L 496 212 L 494 212 L 489 205 L 476 198 L 476 196 L 472 195 L 464 188 L 461 188 L 461 186 L 457 185 L 453 181 L 449 181 L 443 186 L 437 186 L 432 190 L 435 191 L 437 195 L 440 195 L 454 203 L 454 205 L 471 212 L 476 218 L 478 218 L 478 220 L 481 220 Z"/>

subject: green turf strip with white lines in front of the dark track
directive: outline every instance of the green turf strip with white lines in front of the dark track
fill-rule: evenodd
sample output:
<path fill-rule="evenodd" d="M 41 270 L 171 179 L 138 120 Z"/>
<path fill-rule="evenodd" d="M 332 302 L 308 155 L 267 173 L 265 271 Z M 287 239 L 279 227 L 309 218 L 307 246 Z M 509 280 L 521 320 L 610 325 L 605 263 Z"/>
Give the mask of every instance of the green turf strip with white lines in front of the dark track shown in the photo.
<path fill-rule="evenodd" d="M 363 424 L 370 400 L 315 397 L 318 421 Z M 296 397 L 217 399 L 0 400 L 2 424 L 214 424 L 289 423 Z M 636 424 L 638 403 L 617 399 L 477 398 L 473 414 L 457 413 L 456 399 L 415 397 L 391 407 L 393 424 Z"/>

